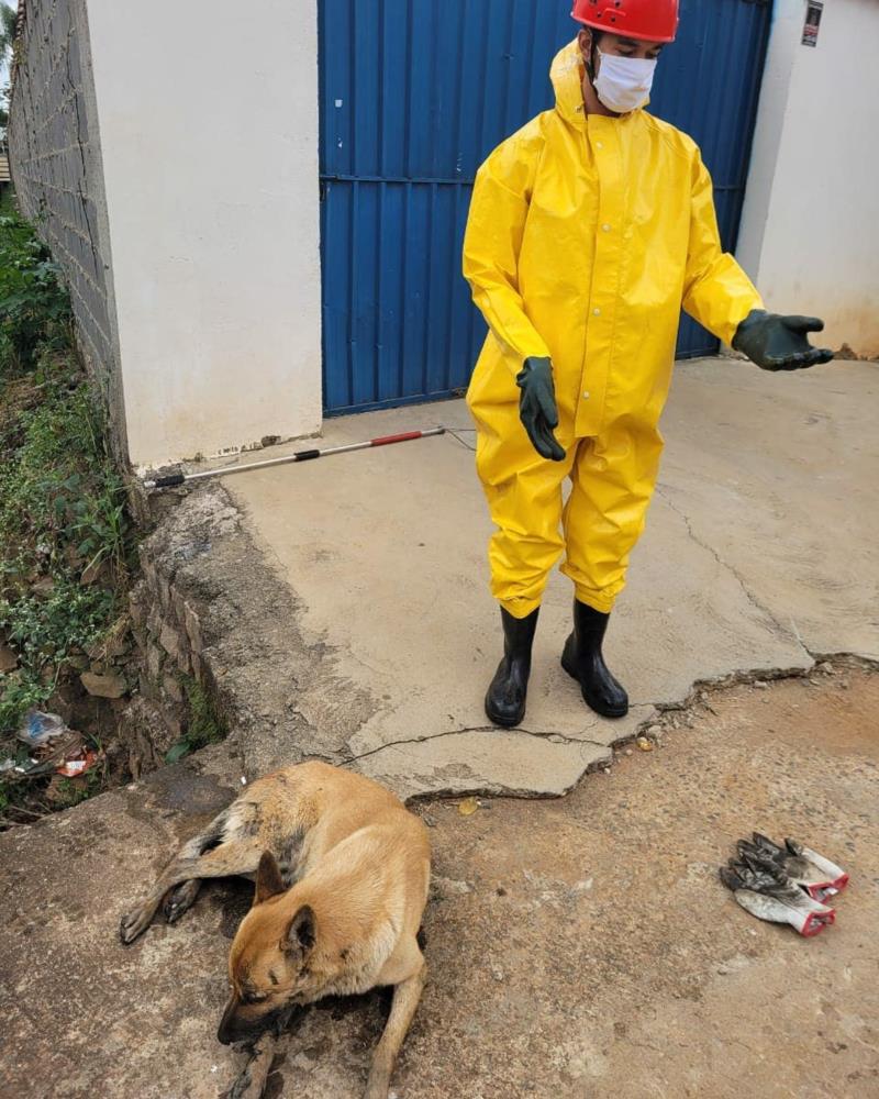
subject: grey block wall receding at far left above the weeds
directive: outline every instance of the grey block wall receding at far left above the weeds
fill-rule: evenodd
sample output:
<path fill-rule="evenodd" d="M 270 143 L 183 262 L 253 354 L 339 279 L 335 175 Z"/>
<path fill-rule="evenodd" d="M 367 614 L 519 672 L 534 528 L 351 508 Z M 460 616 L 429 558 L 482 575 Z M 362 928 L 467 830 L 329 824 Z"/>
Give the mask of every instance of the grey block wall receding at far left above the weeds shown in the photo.
<path fill-rule="evenodd" d="M 127 457 L 109 230 L 86 0 L 24 0 L 10 104 L 12 177 L 22 213 L 62 266 L 77 337 Z"/>

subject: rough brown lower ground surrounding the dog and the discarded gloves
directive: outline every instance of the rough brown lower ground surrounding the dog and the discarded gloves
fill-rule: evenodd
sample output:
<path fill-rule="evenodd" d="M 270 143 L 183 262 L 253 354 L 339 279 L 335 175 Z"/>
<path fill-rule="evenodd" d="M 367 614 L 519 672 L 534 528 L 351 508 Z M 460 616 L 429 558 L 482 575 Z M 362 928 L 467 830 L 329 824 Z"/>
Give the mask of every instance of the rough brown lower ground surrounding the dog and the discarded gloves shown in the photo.
<path fill-rule="evenodd" d="M 558 801 L 421 802 L 431 978 L 397 1099 L 872 1099 L 879 1094 L 879 677 L 738 686 Z M 632 754 L 627 754 L 631 752 Z M 15 1099 L 215 1099 L 214 1039 L 253 887 L 216 884 L 134 946 L 120 914 L 231 797 L 176 766 L 3 837 L 3 1057 Z M 852 875 L 812 940 L 716 878 L 758 828 Z M 381 993 L 299 1024 L 267 1094 L 358 1099 Z"/>

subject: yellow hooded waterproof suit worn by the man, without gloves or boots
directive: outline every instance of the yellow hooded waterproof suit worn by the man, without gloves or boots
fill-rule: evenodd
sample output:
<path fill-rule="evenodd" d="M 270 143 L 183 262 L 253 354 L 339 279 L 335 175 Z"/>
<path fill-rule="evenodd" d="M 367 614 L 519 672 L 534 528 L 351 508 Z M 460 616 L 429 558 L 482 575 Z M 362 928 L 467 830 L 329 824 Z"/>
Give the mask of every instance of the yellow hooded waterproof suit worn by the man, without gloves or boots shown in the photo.
<path fill-rule="evenodd" d="M 763 308 L 721 251 L 696 144 L 643 110 L 587 115 L 582 75 L 574 42 L 553 63 L 555 110 L 479 169 L 464 244 L 489 325 L 467 402 L 498 528 L 491 587 L 515 618 L 539 606 L 565 550 L 577 599 L 611 610 L 656 485 L 681 306 L 727 343 Z M 560 463 L 519 419 L 530 357 L 553 362 Z"/>

